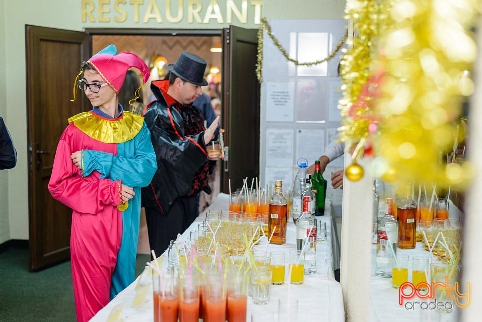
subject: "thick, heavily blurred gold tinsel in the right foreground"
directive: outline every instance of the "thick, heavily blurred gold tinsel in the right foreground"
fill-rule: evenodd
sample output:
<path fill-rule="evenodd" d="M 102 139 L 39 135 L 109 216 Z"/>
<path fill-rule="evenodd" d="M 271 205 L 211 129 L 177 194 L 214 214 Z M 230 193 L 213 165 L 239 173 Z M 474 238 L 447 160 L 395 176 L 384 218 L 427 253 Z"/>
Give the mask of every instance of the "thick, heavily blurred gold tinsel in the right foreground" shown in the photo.
<path fill-rule="evenodd" d="M 388 3 L 388 0 L 386 1 Z M 473 92 L 467 76 L 477 55 L 469 30 L 475 0 L 393 1 L 380 35 L 384 64 L 375 175 L 463 189 L 470 163 L 446 164 L 457 140 L 461 106 Z"/>

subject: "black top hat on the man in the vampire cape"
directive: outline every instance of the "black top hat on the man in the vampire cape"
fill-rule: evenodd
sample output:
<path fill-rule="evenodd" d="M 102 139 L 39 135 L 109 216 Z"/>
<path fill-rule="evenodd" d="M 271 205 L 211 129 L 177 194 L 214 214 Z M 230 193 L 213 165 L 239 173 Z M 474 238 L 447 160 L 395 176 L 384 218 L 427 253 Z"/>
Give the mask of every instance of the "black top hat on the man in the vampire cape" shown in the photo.
<path fill-rule="evenodd" d="M 206 86 L 204 79 L 206 71 L 206 61 L 190 52 L 183 51 L 175 64 L 167 65 L 167 68 L 181 79 L 193 83 L 194 85 Z"/>

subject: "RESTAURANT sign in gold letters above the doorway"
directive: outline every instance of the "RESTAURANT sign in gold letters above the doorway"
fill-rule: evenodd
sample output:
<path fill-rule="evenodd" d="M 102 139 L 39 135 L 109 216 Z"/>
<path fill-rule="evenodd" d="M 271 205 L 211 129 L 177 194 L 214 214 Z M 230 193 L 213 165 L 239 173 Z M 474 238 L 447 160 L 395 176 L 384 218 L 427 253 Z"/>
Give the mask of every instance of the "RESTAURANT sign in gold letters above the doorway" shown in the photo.
<path fill-rule="evenodd" d="M 81 0 L 86 23 L 259 24 L 262 0 Z"/>

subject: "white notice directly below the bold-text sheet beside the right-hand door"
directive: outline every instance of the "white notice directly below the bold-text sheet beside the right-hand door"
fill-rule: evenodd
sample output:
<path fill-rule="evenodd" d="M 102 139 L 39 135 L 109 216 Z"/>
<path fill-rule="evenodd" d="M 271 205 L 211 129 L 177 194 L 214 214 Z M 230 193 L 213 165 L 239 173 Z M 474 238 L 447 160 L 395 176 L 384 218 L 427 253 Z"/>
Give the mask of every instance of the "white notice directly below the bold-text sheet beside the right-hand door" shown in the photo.
<path fill-rule="evenodd" d="M 266 166 L 293 166 L 293 130 L 266 130 Z"/>

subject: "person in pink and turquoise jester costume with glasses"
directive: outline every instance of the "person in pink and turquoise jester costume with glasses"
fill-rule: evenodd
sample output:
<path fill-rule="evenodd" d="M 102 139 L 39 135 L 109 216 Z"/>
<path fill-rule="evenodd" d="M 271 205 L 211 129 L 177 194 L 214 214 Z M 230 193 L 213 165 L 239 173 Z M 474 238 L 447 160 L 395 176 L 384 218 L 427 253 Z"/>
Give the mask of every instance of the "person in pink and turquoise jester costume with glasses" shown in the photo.
<path fill-rule="evenodd" d="M 118 103 L 131 67 L 139 69 L 145 83 L 146 63 L 131 52 L 117 54 L 114 45 L 82 63 L 74 88 L 84 91 L 92 109 L 68 119 L 48 185 L 52 196 L 72 209 L 70 251 L 79 322 L 134 281 L 141 188 L 157 169 L 143 117 Z"/>

